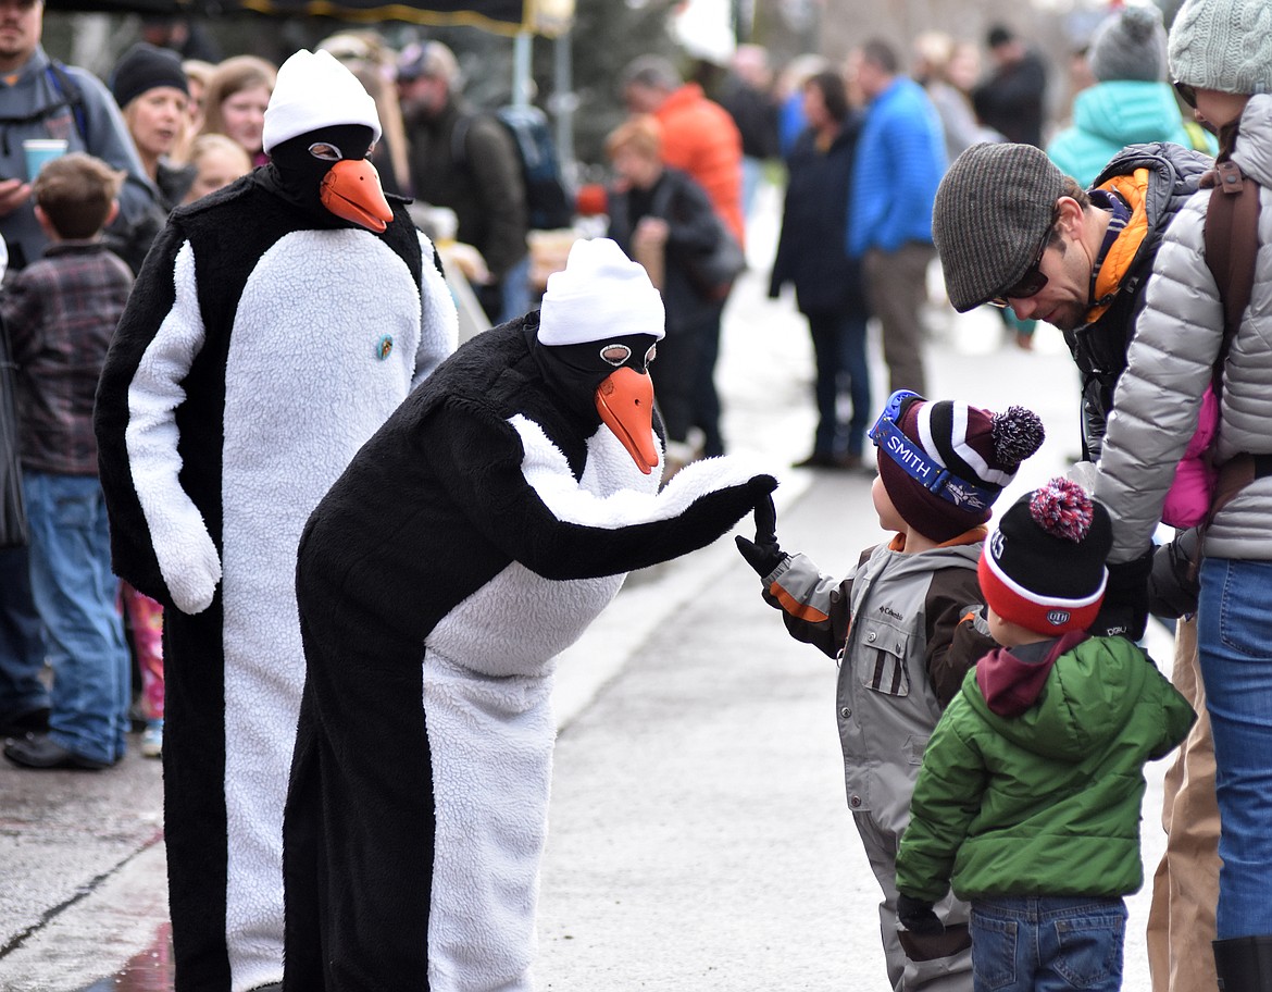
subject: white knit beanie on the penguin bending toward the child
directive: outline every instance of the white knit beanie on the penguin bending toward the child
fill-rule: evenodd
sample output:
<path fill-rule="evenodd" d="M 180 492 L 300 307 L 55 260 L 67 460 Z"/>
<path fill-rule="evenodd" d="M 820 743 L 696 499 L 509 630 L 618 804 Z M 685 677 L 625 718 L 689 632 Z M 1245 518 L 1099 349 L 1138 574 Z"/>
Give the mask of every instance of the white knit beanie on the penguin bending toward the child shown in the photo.
<path fill-rule="evenodd" d="M 609 238 L 580 238 L 565 269 L 548 276 L 539 307 L 539 344 L 570 345 L 665 334 L 663 297 L 637 265 Z"/>

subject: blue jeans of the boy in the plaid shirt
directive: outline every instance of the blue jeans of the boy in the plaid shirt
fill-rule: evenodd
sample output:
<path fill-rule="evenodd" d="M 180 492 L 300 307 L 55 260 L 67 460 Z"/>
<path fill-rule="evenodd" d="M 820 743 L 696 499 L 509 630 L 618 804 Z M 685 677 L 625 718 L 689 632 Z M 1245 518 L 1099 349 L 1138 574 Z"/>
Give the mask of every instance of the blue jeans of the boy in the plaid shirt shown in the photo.
<path fill-rule="evenodd" d="M 114 607 L 106 499 L 95 476 L 24 471 L 31 590 L 48 633 L 48 736 L 85 758 L 123 756 L 131 667 Z"/>

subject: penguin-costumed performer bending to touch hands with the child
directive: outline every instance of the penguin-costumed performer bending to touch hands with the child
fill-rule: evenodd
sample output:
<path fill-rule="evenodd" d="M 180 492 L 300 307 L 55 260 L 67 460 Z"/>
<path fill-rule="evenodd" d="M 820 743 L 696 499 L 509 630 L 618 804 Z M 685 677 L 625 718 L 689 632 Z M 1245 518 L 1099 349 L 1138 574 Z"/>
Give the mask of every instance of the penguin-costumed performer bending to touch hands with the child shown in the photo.
<path fill-rule="evenodd" d="M 661 329 L 644 269 L 576 242 L 541 313 L 464 344 L 310 517 L 287 992 L 532 988 L 555 657 L 776 485 L 728 457 L 659 492 Z"/>

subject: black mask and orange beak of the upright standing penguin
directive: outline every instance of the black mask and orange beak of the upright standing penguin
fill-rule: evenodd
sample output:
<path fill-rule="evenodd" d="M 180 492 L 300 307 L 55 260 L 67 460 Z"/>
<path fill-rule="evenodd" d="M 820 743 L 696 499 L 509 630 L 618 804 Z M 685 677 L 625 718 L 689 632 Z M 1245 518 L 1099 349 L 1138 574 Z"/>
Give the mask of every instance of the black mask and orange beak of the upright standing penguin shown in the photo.
<path fill-rule="evenodd" d="M 379 174 L 366 158 L 374 132 L 361 124 L 308 131 L 273 146 L 254 173 L 270 192 L 299 208 L 319 228 L 365 228 L 375 234 L 393 219 Z"/>

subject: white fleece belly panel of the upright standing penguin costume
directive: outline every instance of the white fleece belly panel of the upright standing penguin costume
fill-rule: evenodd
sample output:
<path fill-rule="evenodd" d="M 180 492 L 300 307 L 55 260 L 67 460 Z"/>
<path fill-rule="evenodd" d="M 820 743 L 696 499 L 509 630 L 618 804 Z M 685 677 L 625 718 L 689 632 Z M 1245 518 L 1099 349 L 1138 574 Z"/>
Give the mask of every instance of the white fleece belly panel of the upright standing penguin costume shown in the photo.
<path fill-rule="evenodd" d="M 300 531 L 406 397 L 418 340 L 410 271 L 368 232 L 289 234 L 243 289 L 225 369 L 221 476 L 234 992 L 282 974 L 282 805 L 304 684 Z"/>

